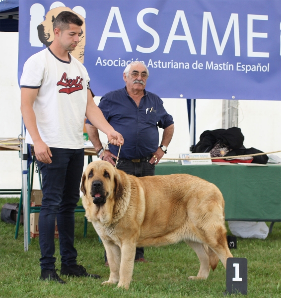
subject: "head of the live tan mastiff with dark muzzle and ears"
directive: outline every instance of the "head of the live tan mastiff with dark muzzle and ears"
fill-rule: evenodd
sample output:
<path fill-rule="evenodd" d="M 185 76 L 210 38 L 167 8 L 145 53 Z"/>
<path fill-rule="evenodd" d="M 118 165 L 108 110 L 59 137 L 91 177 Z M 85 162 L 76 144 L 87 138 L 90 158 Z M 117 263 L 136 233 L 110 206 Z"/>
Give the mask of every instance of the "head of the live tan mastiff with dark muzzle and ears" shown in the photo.
<path fill-rule="evenodd" d="M 84 194 L 84 208 L 92 210 L 94 204 L 95 213 L 103 208 L 107 214 L 112 214 L 115 202 L 124 193 L 119 170 L 102 160 L 93 161 L 87 166 L 80 189 Z"/>

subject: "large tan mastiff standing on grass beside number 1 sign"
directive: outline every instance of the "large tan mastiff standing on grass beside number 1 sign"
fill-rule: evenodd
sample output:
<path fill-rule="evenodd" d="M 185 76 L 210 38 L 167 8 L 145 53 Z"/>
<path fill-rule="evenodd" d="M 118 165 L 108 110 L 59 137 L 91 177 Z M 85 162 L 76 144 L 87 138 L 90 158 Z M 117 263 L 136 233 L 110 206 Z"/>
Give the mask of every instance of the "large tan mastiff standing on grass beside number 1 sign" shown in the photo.
<path fill-rule="evenodd" d="M 85 216 L 100 236 L 109 280 L 129 289 L 136 247 L 185 241 L 200 260 L 206 279 L 219 259 L 232 257 L 226 239 L 224 200 L 212 183 L 188 174 L 135 177 L 106 161 L 89 163 L 82 176 Z"/>

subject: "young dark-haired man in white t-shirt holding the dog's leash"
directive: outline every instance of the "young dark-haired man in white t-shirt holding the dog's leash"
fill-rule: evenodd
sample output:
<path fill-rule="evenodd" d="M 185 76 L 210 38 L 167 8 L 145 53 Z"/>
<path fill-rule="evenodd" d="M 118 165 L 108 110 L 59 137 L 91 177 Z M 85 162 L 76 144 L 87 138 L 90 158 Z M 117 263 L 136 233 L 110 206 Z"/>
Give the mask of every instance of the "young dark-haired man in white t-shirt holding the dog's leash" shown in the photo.
<path fill-rule="evenodd" d="M 82 24 L 76 14 L 61 12 L 53 24 L 53 43 L 26 61 L 20 79 L 26 143 L 34 146 L 43 181 L 39 215 L 41 279 L 62 284 L 65 282 L 55 269 L 56 218 L 61 274 L 99 278 L 77 265 L 74 248 L 74 209 L 84 165 L 85 116 L 107 135 L 111 144 L 124 142 L 95 105 L 85 67 L 69 53 L 79 42 Z"/>

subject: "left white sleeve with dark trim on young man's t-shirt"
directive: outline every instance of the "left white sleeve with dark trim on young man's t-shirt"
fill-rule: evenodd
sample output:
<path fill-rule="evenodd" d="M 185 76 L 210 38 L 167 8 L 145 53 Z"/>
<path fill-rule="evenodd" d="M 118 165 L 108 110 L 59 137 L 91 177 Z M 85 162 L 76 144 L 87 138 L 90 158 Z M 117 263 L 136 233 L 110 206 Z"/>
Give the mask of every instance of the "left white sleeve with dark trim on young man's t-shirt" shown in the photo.
<path fill-rule="evenodd" d="M 44 64 L 39 61 L 29 58 L 23 67 L 23 72 L 20 78 L 20 87 L 40 88 L 44 75 Z"/>

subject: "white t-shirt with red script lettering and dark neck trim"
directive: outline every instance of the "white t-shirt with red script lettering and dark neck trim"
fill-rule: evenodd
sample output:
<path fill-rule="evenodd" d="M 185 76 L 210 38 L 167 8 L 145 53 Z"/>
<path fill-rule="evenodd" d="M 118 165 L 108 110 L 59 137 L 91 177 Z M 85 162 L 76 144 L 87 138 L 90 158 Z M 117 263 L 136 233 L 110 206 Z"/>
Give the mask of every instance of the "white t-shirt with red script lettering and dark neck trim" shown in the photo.
<path fill-rule="evenodd" d="M 49 147 L 81 149 L 90 78 L 85 67 L 69 56 L 70 62 L 62 61 L 49 48 L 31 56 L 20 86 L 39 88 L 33 109 L 42 140 Z M 33 144 L 28 131 L 26 143 Z"/>

